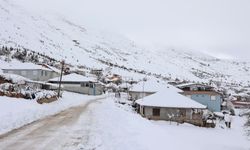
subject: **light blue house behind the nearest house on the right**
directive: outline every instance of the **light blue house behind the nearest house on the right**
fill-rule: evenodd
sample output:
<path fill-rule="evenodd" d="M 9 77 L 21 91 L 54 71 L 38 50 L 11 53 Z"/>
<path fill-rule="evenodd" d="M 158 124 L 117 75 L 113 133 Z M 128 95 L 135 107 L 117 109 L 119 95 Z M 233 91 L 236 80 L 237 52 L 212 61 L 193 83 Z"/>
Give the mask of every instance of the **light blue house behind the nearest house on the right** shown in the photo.
<path fill-rule="evenodd" d="M 196 83 L 185 83 L 177 86 L 185 95 L 196 102 L 207 106 L 212 112 L 220 112 L 222 104 L 222 95 L 214 90 L 213 87 Z"/>

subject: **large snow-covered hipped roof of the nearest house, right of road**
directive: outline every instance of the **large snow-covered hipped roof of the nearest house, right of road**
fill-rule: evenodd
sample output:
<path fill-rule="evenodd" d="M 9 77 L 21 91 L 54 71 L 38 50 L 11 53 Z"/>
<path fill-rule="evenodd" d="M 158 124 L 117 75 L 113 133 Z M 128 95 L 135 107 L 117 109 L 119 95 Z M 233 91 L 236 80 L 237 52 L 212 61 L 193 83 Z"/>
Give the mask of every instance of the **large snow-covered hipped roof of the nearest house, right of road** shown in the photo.
<path fill-rule="evenodd" d="M 185 97 L 173 90 L 163 90 L 144 97 L 136 101 L 137 104 L 153 107 L 169 107 L 169 108 L 200 108 L 205 109 L 206 106 Z"/>

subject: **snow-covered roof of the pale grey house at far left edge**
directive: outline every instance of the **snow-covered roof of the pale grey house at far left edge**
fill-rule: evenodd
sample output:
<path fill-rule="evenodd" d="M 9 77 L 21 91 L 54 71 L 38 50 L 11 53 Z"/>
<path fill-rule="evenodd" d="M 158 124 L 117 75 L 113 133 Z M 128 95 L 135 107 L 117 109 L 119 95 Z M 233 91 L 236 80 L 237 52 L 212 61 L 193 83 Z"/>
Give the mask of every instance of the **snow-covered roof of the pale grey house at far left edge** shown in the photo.
<path fill-rule="evenodd" d="M 51 69 L 45 68 L 41 65 L 36 65 L 33 63 L 6 63 L 4 65 L 0 65 L 0 69 L 3 70 L 49 70 Z"/>

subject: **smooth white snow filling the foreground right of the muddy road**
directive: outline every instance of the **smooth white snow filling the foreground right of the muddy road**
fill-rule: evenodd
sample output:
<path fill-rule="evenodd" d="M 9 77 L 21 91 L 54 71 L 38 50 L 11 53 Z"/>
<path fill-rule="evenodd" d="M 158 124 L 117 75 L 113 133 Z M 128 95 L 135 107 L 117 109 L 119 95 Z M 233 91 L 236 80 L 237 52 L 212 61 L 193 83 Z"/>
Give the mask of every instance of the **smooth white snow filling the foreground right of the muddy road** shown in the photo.
<path fill-rule="evenodd" d="M 149 121 L 121 109 L 108 98 L 95 108 L 88 143 L 81 148 L 97 150 L 249 150 L 243 133 L 244 119 L 235 117 L 232 129 L 207 129 L 189 124 Z M 120 105 L 121 106 L 121 105 Z M 93 109 L 90 108 L 90 109 Z"/>

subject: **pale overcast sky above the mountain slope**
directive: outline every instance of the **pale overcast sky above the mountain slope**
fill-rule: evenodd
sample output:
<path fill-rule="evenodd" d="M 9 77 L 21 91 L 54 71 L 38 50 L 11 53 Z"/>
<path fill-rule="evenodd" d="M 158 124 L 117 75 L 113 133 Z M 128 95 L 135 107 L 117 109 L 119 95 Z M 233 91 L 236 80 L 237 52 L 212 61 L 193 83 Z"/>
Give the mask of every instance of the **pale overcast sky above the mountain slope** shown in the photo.
<path fill-rule="evenodd" d="M 14 1 L 114 30 L 139 44 L 250 60 L 250 0 Z"/>

